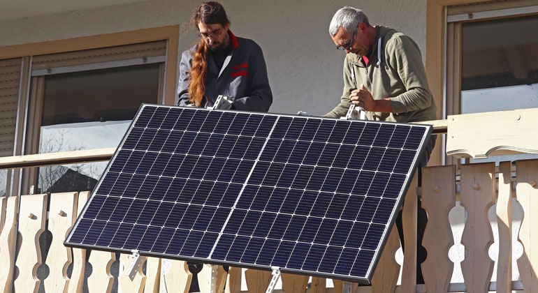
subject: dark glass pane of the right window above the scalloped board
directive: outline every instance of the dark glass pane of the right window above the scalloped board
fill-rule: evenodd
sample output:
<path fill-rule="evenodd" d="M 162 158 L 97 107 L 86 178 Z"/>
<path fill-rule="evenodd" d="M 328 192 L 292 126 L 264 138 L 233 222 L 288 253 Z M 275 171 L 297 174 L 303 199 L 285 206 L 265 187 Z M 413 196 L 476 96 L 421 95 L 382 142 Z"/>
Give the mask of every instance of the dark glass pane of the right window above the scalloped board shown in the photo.
<path fill-rule="evenodd" d="M 538 107 L 538 15 L 462 25 L 461 113 Z M 521 160 L 494 156 L 473 162 Z"/>

